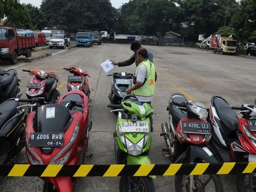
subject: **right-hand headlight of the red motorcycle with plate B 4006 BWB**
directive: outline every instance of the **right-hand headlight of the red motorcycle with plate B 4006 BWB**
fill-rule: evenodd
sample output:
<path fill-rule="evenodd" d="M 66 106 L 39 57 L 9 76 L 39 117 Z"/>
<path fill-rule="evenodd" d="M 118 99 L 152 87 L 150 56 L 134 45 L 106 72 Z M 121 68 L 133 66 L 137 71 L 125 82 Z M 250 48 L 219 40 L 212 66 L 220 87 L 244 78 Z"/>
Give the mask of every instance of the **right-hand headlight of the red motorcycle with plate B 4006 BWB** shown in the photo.
<path fill-rule="evenodd" d="M 71 154 L 71 150 L 68 151 L 68 153 L 66 155 L 64 155 L 63 157 L 61 157 L 58 161 L 57 159 L 63 154 L 66 152 L 66 150 L 74 143 L 76 137 L 77 137 L 77 134 L 78 134 L 78 131 L 79 131 L 79 123 L 77 121 L 76 123 L 76 127 L 75 127 L 75 130 L 72 134 L 72 137 L 69 141 L 69 143 L 56 155 L 52 158 L 52 160 L 50 161 L 50 164 L 55 164 L 55 165 L 58 165 L 58 164 L 65 164 L 66 161 L 68 160 L 68 157 L 69 155 Z"/>

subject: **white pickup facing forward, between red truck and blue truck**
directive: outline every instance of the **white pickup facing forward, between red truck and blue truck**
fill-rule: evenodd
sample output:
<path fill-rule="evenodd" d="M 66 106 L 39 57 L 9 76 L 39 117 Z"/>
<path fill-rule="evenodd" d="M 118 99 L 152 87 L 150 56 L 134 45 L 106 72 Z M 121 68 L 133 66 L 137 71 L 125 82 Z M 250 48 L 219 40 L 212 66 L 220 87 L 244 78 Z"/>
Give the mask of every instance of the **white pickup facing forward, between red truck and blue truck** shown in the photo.
<path fill-rule="evenodd" d="M 54 34 L 53 37 L 49 41 L 49 47 L 70 47 L 70 38 L 67 37 L 66 34 Z"/>

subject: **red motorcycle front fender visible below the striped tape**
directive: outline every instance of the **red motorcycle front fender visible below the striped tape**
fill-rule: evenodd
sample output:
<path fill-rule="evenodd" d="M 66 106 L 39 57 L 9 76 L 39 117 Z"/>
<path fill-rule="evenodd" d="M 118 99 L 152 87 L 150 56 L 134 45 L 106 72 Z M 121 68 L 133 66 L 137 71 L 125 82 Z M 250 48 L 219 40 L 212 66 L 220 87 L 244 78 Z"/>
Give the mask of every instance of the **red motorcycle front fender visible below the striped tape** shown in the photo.
<path fill-rule="evenodd" d="M 52 183 L 58 191 L 73 192 L 73 183 L 71 177 L 50 177 L 45 178 L 47 182 Z"/>

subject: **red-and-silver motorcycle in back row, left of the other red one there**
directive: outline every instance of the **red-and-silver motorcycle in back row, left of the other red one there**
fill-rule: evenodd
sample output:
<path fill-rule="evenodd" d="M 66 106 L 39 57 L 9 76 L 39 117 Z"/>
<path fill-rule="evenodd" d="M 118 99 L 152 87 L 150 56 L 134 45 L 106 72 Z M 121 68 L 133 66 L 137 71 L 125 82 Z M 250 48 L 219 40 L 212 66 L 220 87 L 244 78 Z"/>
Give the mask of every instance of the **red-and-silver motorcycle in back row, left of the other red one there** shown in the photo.
<path fill-rule="evenodd" d="M 26 95 L 28 99 L 44 97 L 46 103 L 55 103 L 59 99 L 60 92 L 57 90 L 58 77 L 55 72 L 46 73 L 39 69 L 22 69 L 22 71 L 35 76 L 27 84 Z"/>

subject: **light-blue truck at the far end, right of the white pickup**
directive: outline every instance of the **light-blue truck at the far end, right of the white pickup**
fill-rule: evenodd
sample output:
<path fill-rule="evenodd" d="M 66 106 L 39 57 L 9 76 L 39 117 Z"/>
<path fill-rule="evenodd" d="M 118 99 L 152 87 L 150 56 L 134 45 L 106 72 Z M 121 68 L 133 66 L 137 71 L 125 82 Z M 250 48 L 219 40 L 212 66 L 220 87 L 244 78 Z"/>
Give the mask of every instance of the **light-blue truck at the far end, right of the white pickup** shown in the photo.
<path fill-rule="evenodd" d="M 93 45 L 94 37 L 92 35 L 92 31 L 90 30 L 77 30 L 76 34 L 76 45 L 79 46 L 87 46 L 91 47 Z"/>

